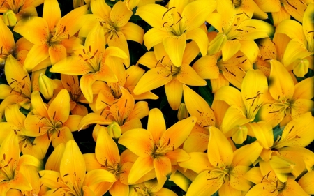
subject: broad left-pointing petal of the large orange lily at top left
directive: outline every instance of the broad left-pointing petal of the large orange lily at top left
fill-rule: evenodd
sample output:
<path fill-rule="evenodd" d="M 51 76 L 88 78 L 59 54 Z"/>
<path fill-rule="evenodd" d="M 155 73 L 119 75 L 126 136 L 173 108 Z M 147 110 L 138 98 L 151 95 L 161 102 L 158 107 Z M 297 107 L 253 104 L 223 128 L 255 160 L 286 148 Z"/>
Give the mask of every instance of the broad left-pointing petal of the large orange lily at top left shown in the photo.
<path fill-rule="evenodd" d="M 34 45 L 44 45 L 49 38 L 47 22 L 41 17 L 31 17 L 20 20 L 14 27 L 14 31 L 20 33 Z"/>

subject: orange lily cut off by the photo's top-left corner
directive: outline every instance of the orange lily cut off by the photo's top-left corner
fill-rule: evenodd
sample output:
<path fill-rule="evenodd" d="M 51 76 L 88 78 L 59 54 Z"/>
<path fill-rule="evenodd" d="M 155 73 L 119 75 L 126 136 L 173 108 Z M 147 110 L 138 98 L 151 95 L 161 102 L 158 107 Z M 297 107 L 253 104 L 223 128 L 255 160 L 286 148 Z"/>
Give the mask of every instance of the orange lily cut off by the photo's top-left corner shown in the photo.
<path fill-rule="evenodd" d="M 44 0 L 0 0 L 0 13 L 6 13 L 8 11 L 13 12 L 16 21 L 20 21 L 24 18 L 37 16 L 36 7 L 43 3 Z M 14 26 L 13 25 L 10 26 Z"/>

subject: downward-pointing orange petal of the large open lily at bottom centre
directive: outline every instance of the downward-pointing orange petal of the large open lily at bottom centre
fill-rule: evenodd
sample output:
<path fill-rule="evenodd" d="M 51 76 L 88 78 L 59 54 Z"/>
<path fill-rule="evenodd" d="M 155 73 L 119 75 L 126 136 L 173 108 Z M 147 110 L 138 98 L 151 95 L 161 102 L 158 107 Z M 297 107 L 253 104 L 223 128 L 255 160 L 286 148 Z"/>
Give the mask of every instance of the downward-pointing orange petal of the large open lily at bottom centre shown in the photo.
<path fill-rule="evenodd" d="M 167 175 L 171 173 L 170 159 L 165 156 L 162 156 L 160 158 L 155 158 L 154 168 L 155 168 L 158 183 L 159 184 L 165 183 L 165 181 L 167 181 Z"/>

